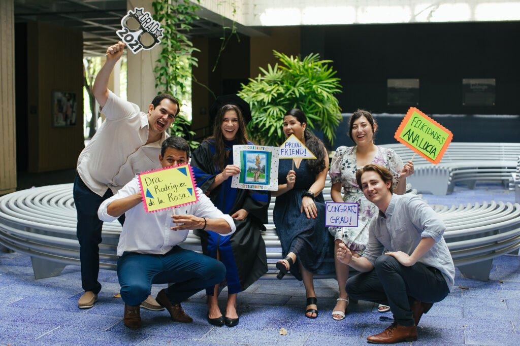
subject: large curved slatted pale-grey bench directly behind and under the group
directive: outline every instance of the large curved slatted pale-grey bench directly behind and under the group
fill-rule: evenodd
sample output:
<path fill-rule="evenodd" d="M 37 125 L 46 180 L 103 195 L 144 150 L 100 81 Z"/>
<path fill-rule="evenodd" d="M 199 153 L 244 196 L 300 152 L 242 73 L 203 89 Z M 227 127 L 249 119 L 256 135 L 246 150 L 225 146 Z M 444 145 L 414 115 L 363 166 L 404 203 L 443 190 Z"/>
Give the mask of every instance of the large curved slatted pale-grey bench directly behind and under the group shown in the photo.
<path fill-rule="evenodd" d="M 330 190 L 330 183 L 328 183 Z M 330 193 L 324 197 L 330 201 Z M 266 243 L 269 272 L 282 257 L 269 206 Z M 445 239 L 453 260 L 467 277 L 487 280 L 492 259 L 520 248 L 520 205 L 504 203 L 434 206 L 447 226 Z M 116 247 L 121 233 L 117 222 L 104 223 L 100 268 L 115 270 Z M 80 264 L 76 239 L 76 211 L 72 184 L 22 190 L 0 197 L 0 244 L 31 257 L 36 278 L 59 275 L 67 264 Z M 183 247 L 200 251 L 200 238 L 192 232 Z M 290 277 L 290 276 L 288 276 Z M 317 275 L 331 277 L 331 275 Z"/>

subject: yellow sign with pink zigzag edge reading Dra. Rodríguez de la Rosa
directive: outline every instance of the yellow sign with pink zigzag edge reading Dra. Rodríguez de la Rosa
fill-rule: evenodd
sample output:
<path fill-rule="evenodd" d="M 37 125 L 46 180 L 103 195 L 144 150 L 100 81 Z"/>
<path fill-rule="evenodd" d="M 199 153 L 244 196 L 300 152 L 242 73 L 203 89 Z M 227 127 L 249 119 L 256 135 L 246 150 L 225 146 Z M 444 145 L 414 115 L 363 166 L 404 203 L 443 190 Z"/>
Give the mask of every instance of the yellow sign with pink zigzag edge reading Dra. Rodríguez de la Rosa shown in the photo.
<path fill-rule="evenodd" d="M 188 164 L 141 173 L 139 185 L 147 212 L 191 204 L 199 199 Z"/>

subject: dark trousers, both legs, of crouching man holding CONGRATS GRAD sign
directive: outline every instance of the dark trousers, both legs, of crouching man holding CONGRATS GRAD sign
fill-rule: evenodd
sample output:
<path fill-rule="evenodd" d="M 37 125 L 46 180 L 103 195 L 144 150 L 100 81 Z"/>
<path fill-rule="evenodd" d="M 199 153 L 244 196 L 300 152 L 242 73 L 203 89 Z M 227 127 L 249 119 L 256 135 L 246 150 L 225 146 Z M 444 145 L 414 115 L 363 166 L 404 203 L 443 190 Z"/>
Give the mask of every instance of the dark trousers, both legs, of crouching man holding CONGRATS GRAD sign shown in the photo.
<path fill-rule="evenodd" d="M 414 300 L 436 303 L 449 294 L 438 269 L 419 262 L 405 267 L 388 255 L 378 257 L 372 271 L 349 278 L 346 290 L 350 298 L 388 305 L 401 326 L 414 324 L 410 310 Z"/>

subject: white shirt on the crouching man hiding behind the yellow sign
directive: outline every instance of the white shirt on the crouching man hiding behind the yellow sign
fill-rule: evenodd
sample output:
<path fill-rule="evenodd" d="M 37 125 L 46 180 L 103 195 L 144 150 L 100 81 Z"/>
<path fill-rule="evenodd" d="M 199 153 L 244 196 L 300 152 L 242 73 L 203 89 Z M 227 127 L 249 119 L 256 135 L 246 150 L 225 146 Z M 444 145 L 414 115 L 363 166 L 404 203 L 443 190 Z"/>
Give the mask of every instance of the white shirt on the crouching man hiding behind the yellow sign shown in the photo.
<path fill-rule="evenodd" d="M 224 219 L 231 227 L 230 235 L 235 232 L 235 222 L 229 215 L 223 214 L 218 210 L 210 198 L 206 197 L 202 190 L 197 189 L 199 201 L 189 205 L 175 208 L 177 215 L 194 215 L 208 219 Z M 98 209 L 98 217 L 105 222 L 114 221 L 115 217 L 110 216 L 107 207 L 115 199 L 124 198 L 139 192 L 138 177 L 132 179 L 115 195 L 101 203 Z M 123 231 L 119 236 L 118 256 L 122 256 L 125 251 L 139 252 L 140 254 L 163 255 L 170 251 L 175 245 L 182 243 L 188 236 L 188 230 L 172 231 L 174 227 L 171 216 L 172 209 L 146 212 L 142 203 L 125 212 L 125 222 Z"/>

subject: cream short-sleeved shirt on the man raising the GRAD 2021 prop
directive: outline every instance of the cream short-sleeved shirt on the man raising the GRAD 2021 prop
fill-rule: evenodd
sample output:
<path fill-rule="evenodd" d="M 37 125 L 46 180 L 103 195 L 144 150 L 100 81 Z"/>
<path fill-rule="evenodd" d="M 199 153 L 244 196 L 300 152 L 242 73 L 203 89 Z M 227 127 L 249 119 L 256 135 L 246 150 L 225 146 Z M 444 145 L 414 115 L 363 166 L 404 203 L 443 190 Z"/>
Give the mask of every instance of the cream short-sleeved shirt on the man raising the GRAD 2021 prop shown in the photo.
<path fill-rule="evenodd" d="M 146 144 L 148 115 L 110 90 L 101 112 L 106 121 L 77 159 L 81 180 L 100 196 L 108 188 L 117 192 L 142 171 L 160 168 L 161 143 L 169 137 L 163 132 L 159 141 Z"/>

